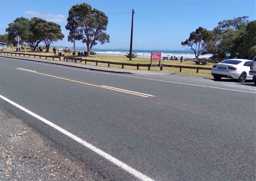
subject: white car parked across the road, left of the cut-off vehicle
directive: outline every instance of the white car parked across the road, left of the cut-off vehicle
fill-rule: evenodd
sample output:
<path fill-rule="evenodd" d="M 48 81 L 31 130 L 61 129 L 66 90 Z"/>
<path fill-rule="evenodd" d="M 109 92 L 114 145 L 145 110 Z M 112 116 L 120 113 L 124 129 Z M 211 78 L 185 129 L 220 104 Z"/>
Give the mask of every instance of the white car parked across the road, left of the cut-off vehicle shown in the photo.
<path fill-rule="evenodd" d="M 246 59 L 224 60 L 213 65 L 212 76 L 216 80 L 226 77 L 244 83 L 245 80 L 252 80 L 252 76 L 249 75 L 251 62 L 251 60 Z"/>

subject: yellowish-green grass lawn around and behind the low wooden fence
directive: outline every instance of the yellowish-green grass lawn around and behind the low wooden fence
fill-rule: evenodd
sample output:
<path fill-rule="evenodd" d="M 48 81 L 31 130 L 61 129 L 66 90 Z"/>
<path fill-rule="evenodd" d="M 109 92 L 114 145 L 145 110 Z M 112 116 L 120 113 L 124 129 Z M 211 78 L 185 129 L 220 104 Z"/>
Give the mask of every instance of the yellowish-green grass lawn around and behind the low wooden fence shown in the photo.
<path fill-rule="evenodd" d="M 15 48 L 14 50 L 4 50 L 4 52 L 15 52 Z M 17 53 L 17 52 L 16 52 Z M 45 53 L 45 52 L 30 52 L 27 51 L 23 51 L 21 50 L 20 53 L 27 53 L 27 54 L 36 54 L 36 55 L 49 55 L 49 56 L 53 56 L 53 52 L 52 50 L 50 50 L 50 53 Z M 64 54 L 63 51 L 61 51 L 62 54 Z M 71 56 L 71 54 L 66 54 L 65 56 Z M 81 58 L 81 57 L 79 57 Z M 52 60 L 52 58 L 47 58 L 48 60 Z M 99 61 L 109 61 L 109 62 L 120 62 L 120 63 L 132 63 L 132 64 L 150 64 L 150 59 L 146 59 L 146 58 L 142 58 L 142 57 L 136 57 L 134 59 L 132 59 L 131 61 L 129 60 L 129 58 L 127 58 L 126 56 L 114 56 L 114 55 L 90 55 L 89 57 L 82 57 L 82 59 L 87 59 L 87 60 L 99 60 Z M 55 59 L 57 60 L 57 59 Z M 80 63 L 79 61 L 77 61 L 77 63 Z M 81 63 L 84 63 L 81 62 Z M 153 64 L 158 64 L 159 61 L 153 61 Z M 206 65 L 197 65 L 195 62 L 193 61 L 186 61 L 183 60 L 182 64 L 180 64 L 180 61 L 175 61 L 175 60 L 161 60 L 161 63 L 163 64 L 169 64 L 169 65 L 185 65 L 185 66 L 190 66 L 190 67 L 207 67 L 207 68 L 212 68 L 212 65 L 214 63 L 208 63 Z M 94 62 L 87 62 L 87 64 L 90 65 L 95 65 Z M 107 67 L 108 64 L 107 63 L 98 63 L 99 66 L 102 67 Z M 122 68 L 121 65 L 114 65 L 114 64 L 110 64 L 110 67 L 113 68 Z M 137 69 L 137 67 L 132 67 L 132 66 L 124 66 L 124 69 Z M 148 70 L 147 67 L 140 67 L 140 70 Z M 159 71 L 160 68 L 159 67 L 151 67 L 150 71 Z M 163 67 L 164 71 L 172 71 L 172 72 L 179 72 L 179 68 L 171 68 L 171 67 Z M 196 69 L 185 69 L 182 68 L 181 73 L 185 73 L 188 75 L 194 75 L 194 76 L 202 76 L 202 77 L 207 77 L 207 78 L 212 78 L 211 75 L 211 70 L 199 70 L 199 73 L 196 73 Z"/>

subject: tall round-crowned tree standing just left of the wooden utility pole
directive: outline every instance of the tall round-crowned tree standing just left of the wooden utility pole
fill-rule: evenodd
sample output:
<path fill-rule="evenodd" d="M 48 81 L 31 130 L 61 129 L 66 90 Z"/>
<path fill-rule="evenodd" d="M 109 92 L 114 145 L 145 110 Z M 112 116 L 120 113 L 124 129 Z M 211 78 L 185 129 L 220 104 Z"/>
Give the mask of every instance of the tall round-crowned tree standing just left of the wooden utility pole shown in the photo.
<path fill-rule="evenodd" d="M 92 9 L 89 4 L 82 3 L 71 7 L 68 12 L 69 40 L 82 40 L 87 46 L 87 55 L 90 55 L 92 47 L 109 43 L 110 36 L 106 34 L 108 17 L 105 13 Z"/>

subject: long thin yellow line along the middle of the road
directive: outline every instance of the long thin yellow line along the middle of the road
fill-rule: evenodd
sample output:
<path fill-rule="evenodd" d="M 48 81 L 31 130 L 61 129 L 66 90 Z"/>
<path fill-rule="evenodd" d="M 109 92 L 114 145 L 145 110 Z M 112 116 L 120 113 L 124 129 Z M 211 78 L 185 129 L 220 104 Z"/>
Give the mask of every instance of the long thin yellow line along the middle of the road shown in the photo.
<path fill-rule="evenodd" d="M 85 84 L 85 85 L 94 86 L 94 87 L 99 87 L 99 88 L 105 88 L 105 89 L 109 89 L 109 90 L 111 90 L 111 91 L 116 91 L 116 92 L 121 92 L 121 93 L 126 93 L 126 94 L 132 94 L 132 95 L 137 95 L 137 96 L 141 96 L 141 97 L 149 97 L 149 96 L 146 96 L 146 95 L 141 95 L 141 94 L 126 92 L 126 91 L 121 91 L 121 90 L 118 90 L 118 89 L 109 88 L 109 87 L 103 87 L 103 86 L 98 86 L 98 85 L 89 84 L 89 83 L 83 83 L 82 81 L 77 81 L 77 80 L 71 80 L 71 79 L 66 79 L 66 78 L 62 78 L 62 77 L 52 76 L 52 75 L 48 75 L 48 74 L 45 74 L 45 73 L 40 73 L 40 72 L 31 71 L 31 70 L 27 70 L 27 69 L 22 69 L 22 68 L 16 68 L 16 69 L 18 69 L 18 70 L 23 70 L 23 71 L 27 71 L 27 72 L 31 72 L 31 73 L 37 73 L 37 74 L 43 75 L 43 76 L 48 76 L 48 77 L 58 78 L 58 79 L 62 79 L 62 80 L 73 81 L 74 83 Z"/>

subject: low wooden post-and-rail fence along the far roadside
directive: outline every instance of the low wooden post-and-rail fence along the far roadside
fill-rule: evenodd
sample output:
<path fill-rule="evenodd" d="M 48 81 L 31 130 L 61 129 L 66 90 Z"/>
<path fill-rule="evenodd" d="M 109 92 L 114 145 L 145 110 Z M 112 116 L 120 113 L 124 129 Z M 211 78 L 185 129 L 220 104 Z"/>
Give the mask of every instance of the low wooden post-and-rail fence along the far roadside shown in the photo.
<path fill-rule="evenodd" d="M 169 64 L 140 64 L 140 63 L 121 63 L 121 62 L 109 62 L 109 61 L 101 61 L 101 60 L 88 60 L 88 59 L 82 59 L 82 58 L 78 58 L 78 57 L 73 57 L 73 56 L 53 56 L 53 55 L 37 55 L 37 54 L 28 54 L 28 53 L 15 53 L 15 52 L 0 52 L 0 54 L 7 54 L 7 55 L 15 55 L 15 56 L 33 56 L 35 57 L 39 57 L 39 59 L 41 59 L 42 57 L 45 57 L 45 59 L 47 58 L 52 58 L 52 60 L 54 59 L 58 59 L 59 61 L 61 61 L 62 57 L 63 57 L 63 61 L 75 61 L 77 63 L 77 61 L 84 61 L 85 64 L 87 64 L 87 62 L 95 62 L 95 65 L 98 65 L 98 63 L 106 63 L 108 64 L 108 67 L 110 67 L 110 64 L 115 64 L 115 65 L 122 65 L 122 69 L 124 69 L 124 66 L 132 66 L 132 67 L 137 67 L 137 70 L 139 70 L 140 67 L 148 67 L 148 70 L 150 70 L 150 67 L 160 67 L 160 70 L 163 70 L 163 67 L 173 67 L 173 68 L 180 68 L 180 72 L 183 69 L 196 69 L 196 73 L 199 72 L 200 70 L 212 70 L 212 68 L 208 68 L 208 67 L 191 67 L 191 66 L 185 66 L 185 65 L 169 65 Z"/>

